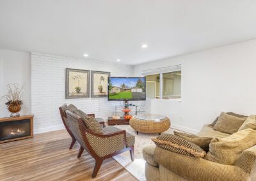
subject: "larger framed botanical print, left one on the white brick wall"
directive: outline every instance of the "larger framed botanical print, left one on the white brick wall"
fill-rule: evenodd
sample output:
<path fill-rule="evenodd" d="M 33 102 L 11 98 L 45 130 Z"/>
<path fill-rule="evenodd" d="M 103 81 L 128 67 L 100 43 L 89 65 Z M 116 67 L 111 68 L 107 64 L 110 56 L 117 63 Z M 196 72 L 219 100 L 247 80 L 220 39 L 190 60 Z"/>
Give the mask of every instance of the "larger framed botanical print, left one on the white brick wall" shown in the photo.
<path fill-rule="evenodd" d="M 90 97 L 90 71 L 66 69 L 66 99 Z"/>

